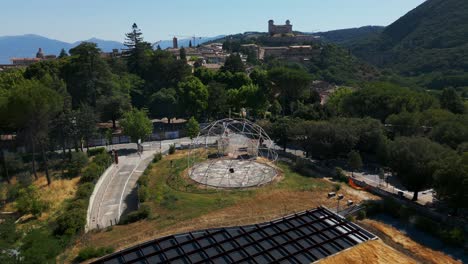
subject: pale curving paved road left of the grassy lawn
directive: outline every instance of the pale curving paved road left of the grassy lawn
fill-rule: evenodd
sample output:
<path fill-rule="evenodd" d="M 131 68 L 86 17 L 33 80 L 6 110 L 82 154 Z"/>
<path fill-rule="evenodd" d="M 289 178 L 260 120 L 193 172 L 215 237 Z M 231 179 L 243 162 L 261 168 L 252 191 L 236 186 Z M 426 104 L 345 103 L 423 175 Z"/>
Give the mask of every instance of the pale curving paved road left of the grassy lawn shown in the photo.
<path fill-rule="evenodd" d="M 154 154 L 165 152 L 171 144 L 190 144 L 181 138 L 163 142 L 145 142 L 145 151 L 136 153 L 136 144 L 111 146 L 118 150 L 119 164 L 113 164 L 100 177 L 90 200 L 86 230 L 102 229 L 119 222 L 126 211 L 137 209 L 136 182 L 153 159 Z"/>

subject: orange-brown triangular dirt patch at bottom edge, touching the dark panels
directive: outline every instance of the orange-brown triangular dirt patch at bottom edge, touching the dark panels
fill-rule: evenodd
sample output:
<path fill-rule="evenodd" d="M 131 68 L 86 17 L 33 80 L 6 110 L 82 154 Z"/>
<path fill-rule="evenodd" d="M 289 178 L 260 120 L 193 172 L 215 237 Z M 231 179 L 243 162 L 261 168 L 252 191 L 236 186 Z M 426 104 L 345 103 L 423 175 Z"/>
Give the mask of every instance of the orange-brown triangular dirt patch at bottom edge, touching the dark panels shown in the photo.
<path fill-rule="evenodd" d="M 364 242 L 348 250 L 319 261 L 323 264 L 410 264 L 418 263 L 416 260 L 387 246 L 381 240 Z"/>

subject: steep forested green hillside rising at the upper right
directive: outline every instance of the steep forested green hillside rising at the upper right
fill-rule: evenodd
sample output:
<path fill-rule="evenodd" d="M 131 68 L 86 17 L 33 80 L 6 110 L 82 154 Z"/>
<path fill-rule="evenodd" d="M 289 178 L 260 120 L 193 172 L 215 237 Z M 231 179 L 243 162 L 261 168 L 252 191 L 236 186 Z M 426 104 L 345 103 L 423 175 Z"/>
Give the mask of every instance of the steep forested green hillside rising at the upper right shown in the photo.
<path fill-rule="evenodd" d="M 468 72 L 468 1 L 428 0 L 386 27 L 348 45 L 364 60 L 406 76 L 455 78 Z M 467 86 L 468 76 L 461 84 Z"/>

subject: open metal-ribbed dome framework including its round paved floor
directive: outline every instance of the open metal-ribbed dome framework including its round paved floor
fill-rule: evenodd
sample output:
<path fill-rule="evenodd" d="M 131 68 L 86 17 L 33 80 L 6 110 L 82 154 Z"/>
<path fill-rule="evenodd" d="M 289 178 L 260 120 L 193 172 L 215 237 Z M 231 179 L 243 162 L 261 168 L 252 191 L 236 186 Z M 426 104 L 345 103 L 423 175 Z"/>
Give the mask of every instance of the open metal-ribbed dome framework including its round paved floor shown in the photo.
<path fill-rule="evenodd" d="M 204 127 L 188 154 L 189 177 L 205 186 L 248 188 L 277 175 L 274 143 L 259 125 L 246 119 L 221 119 Z"/>

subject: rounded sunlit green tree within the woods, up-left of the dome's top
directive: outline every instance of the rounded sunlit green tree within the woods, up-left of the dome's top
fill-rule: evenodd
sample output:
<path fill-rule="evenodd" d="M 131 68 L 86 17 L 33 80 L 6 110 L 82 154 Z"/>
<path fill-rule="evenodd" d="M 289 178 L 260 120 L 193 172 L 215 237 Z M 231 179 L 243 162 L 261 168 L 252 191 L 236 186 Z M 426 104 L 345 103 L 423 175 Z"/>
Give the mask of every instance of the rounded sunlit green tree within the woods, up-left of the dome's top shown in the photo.
<path fill-rule="evenodd" d="M 200 116 L 208 106 L 208 89 L 196 77 L 190 77 L 180 82 L 179 106 L 186 116 Z"/>

